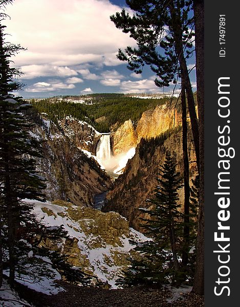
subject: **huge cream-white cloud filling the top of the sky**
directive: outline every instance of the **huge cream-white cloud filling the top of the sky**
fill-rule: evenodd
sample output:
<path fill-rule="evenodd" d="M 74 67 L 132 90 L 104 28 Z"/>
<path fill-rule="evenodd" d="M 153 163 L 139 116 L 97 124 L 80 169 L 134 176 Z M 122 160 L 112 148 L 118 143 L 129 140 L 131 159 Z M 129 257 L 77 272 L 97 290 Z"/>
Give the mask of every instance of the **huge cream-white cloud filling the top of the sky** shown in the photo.
<path fill-rule="evenodd" d="M 120 10 L 108 0 L 14 2 L 6 10 L 11 20 L 4 21 L 11 34 L 9 40 L 28 48 L 14 58 L 15 64 L 24 69 L 29 65 L 31 68 L 32 65 L 69 67 L 90 62 L 121 64 L 116 58 L 118 48 L 136 43 L 110 20 L 110 15 Z M 28 70 L 26 79 L 38 76 Z M 42 70 L 41 74 L 49 76 L 48 70 Z M 94 76 L 90 77 L 94 80 Z"/>

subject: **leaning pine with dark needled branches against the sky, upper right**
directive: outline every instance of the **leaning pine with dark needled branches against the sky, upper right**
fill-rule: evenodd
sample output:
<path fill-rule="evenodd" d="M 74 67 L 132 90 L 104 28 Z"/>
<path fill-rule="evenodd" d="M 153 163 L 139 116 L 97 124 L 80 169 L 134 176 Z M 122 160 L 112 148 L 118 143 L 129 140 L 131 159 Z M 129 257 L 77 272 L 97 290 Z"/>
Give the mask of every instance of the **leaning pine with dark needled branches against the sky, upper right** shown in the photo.
<path fill-rule="evenodd" d="M 193 18 L 189 18 L 192 1 L 126 0 L 135 13 L 125 9 L 110 18 L 118 29 L 129 33 L 137 47 L 119 49 L 117 57 L 127 61 L 127 68 L 140 74 L 144 65 L 156 73 L 157 86 L 169 86 L 182 78 L 187 95 L 188 111 L 199 170 L 199 127 L 195 111 L 187 58 L 192 54 Z"/>

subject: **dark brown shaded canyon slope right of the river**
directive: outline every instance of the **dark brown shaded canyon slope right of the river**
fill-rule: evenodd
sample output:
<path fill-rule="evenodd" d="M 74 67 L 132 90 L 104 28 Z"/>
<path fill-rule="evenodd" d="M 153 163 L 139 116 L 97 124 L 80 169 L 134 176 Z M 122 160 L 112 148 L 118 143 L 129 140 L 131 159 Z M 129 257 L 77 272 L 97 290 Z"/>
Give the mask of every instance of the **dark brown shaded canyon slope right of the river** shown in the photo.
<path fill-rule="evenodd" d="M 158 184 L 159 167 L 165 160 L 166 149 L 175 157 L 177 171 L 183 174 L 182 130 L 170 130 L 168 134 L 156 140 L 142 139 L 136 148 L 135 156 L 126 165 L 125 171 L 114 183 L 113 190 L 107 193 L 107 204 L 104 211 L 117 211 L 125 216 L 130 226 L 139 230 L 139 207 L 148 207 L 147 199 L 154 198 L 154 190 Z M 165 140 L 164 140 L 165 139 Z M 197 173 L 192 137 L 189 133 L 190 177 Z M 179 193 L 180 203 L 183 204 L 183 189 Z"/>

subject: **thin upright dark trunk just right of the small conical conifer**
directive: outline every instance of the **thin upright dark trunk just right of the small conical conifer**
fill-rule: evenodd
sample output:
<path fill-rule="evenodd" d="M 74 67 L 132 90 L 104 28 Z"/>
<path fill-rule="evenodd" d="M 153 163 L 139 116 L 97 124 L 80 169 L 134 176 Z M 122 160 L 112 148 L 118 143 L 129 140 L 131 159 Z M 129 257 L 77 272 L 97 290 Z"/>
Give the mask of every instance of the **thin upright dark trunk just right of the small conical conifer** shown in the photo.
<path fill-rule="evenodd" d="M 184 84 L 182 82 L 182 124 L 183 124 L 183 165 L 184 165 L 184 226 L 183 226 L 183 252 L 182 252 L 182 266 L 186 267 L 188 264 L 188 249 L 189 249 L 189 163 L 188 163 L 188 146 L 187 146 L 187 109 L 186 109 L 186 95 Z"/>

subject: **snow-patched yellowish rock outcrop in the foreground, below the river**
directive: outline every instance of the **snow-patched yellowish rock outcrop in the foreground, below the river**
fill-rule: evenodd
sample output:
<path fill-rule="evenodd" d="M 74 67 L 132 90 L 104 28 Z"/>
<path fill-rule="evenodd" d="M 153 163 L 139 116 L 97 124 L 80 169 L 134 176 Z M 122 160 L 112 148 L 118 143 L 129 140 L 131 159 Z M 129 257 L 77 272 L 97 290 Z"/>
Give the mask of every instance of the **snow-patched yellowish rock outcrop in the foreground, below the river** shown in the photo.
<path fill-rule="evenodd" d="M 50 249 L 65 254 L 70 264 L 94 274 L 115 287 L 115 280 L 128 264 L 133 248 L 129 240 L 146 240 L 130 229 L 124 217 L 116 212 L 74 206 L 69 202 L 35 202 L 34 213 L 50 226 L 63 225 L 69 238 L 50 243 Z"/>

